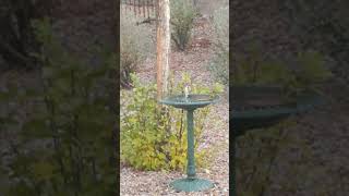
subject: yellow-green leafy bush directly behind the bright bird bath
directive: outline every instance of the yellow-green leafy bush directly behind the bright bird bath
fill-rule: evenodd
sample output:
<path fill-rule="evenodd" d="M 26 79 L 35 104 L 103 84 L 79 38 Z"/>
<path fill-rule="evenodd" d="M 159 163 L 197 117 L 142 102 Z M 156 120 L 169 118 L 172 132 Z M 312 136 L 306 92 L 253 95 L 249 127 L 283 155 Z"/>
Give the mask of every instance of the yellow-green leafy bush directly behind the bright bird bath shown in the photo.
<path fill-rule="evenodd" d="M 188 76 L 171 89 L 181 94 Z M 184 170 L 186 167 L 186 120 L 183 110 L 159 107 L 156 100 L 156 86 L 142 85 L 134 77 L 133 91 L 123 91 L 128 102 L 121 117 L 121 161 L 142 170 Z M 217 94 L 218 88 L 209 89 L 192 84 L 192 93 Z M 132 95 L 129 95 L 132 94 Z M 195 149 L 201 140 L 204 122 L 209 107 L 195 112 Z M 204 163 L 206 150 L 196 156 L 198 166 Z"/>

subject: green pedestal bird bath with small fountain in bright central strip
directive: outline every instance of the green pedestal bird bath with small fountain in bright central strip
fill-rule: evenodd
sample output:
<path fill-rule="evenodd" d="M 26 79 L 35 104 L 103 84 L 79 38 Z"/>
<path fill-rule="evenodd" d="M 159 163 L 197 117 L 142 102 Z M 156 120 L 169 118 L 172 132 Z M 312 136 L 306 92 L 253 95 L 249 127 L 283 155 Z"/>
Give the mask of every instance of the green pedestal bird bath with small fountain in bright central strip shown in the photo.
<path fill-rule="evenodd" d="M 185 95 L 169 96 L 159 101 L 160 103 L 164 103 L 164 105 L 186 110 L 186 121 L 188 121 L 186 175 L 188 176 L 185 179 L 179 179 L 170 183 L 170 186 L 176 191 L 200 192 L 200 191 L 212 188 L 214 186 L 214 184 L 208 180 L 196 177 L 193 119 L 194 119 L 194 110 L 216 102 L 218 100 L 217 98 L 218 97 L 212 97 L 209 95 L 188 95 L 188 91 L 185 91 Z"/>

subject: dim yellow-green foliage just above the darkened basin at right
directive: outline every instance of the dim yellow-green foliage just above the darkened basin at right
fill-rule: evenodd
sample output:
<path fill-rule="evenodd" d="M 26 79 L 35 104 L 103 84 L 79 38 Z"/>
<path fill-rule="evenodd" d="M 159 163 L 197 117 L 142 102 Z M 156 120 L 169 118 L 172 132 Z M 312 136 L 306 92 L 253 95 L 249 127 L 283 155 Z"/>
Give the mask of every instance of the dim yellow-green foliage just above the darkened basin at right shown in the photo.
<path fill-rule="evenodd" d="M 318 90 L 320 85 L 332 77 L 324 54 L 316 51 L 299 52 L 290 61 L 263 57 L 256 45 L 248 57 L 234 57 L 231 83 L 234 85 L 272 85 L 284 88 L 293 97 L 303 90 Z"/>

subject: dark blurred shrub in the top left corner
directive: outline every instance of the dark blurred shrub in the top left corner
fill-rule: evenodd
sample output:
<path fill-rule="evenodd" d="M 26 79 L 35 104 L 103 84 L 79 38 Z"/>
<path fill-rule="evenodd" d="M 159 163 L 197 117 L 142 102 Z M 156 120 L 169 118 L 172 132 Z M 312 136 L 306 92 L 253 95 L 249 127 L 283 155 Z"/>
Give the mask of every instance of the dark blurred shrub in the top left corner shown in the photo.
<path fill-rule="evenodd" d="M 2 0 L 0 2 L 0 57 L 7 70 L 37 68 L 32 52 L 37 52 L 31 20 L 43 19 L 50 14 L 51 1 Z M 2 64 L 3 65 L 3 64 Z"/>

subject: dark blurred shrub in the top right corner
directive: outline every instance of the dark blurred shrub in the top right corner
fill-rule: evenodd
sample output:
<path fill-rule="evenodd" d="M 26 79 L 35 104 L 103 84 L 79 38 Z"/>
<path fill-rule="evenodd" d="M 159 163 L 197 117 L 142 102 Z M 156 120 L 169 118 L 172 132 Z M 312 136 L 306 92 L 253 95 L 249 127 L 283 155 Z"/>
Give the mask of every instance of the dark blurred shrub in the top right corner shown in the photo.
<path fill-rule="evenodd" d="M 303 50 L 317 50 L 335 60 L 334 73 L 349 82 L 348 2 L 342 0 L 286 0 L 280 9 L 292 24 Z"/>

